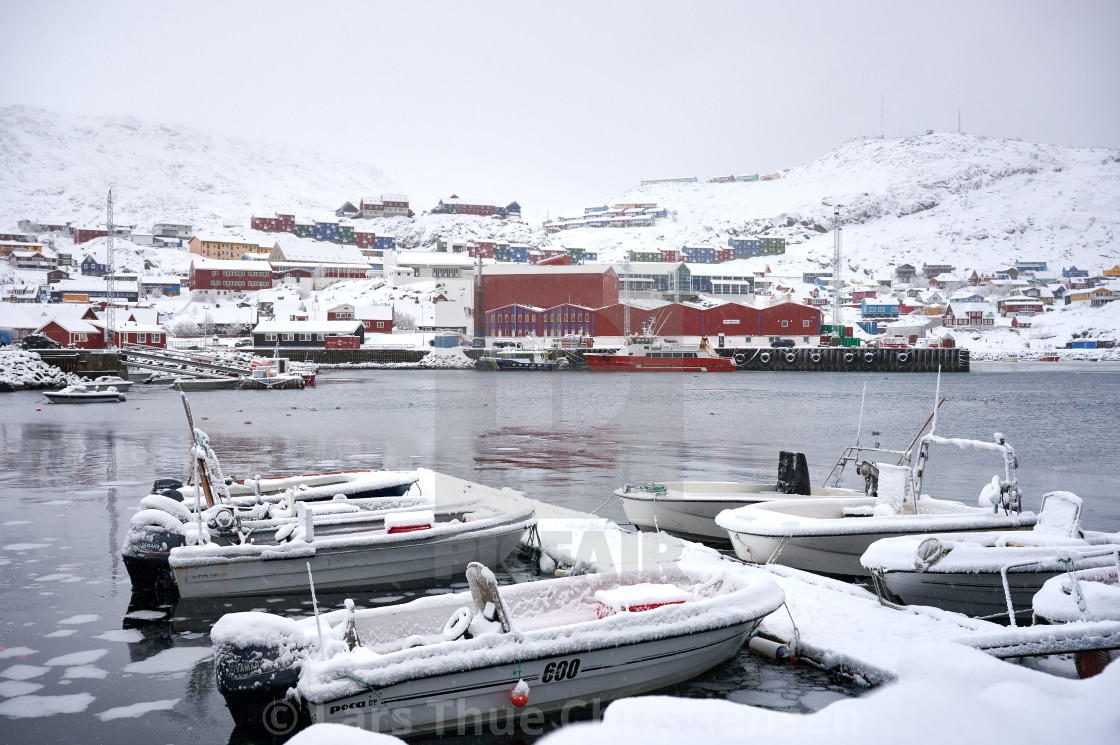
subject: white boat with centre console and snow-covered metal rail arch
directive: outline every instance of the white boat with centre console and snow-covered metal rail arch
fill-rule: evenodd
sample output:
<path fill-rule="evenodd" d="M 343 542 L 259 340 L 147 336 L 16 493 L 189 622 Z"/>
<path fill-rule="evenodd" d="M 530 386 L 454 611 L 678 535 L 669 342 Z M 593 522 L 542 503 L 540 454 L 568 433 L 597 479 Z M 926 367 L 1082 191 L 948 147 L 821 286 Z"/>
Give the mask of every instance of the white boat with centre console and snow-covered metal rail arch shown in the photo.
<path fill-rule="evenodd" d="M 936 416 L 933 417 L 934 429 Z M 1004 457 L 996 493 L 986 487 L 982 506 L 922 495 L 931 445 L 995 450 Z M 871 464 L 866 464 L 871 466 Z M 731 538 L 735 553 L 755 564 L 783 564 L 819 574 L 867 577 L 859 559 L 883 538 L 928 533 L 1025 530 L 1035 514 L 1021 511 L 1012 471 L 1015 450 L 999 432 L 993 443 L 940 437 L 921 439 L 913 467 L 874 464 L 875 496 L 780 500 L 728 510 L 716 522 Z"/>

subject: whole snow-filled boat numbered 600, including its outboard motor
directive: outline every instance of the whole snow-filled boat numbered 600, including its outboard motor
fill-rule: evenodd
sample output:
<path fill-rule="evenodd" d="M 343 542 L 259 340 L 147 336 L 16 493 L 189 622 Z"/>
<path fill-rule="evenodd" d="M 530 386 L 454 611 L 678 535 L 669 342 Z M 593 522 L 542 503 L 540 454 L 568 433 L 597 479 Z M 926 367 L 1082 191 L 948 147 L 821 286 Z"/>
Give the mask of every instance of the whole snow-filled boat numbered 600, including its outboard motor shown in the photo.
<path fill-rule="evenodd" d="M 693 678 L 731 658 L 784 602 L 759 572 L 584 575 L 301 621 L 223 616 L 218 690 L 237 720 L 293 687 L 314 721 L 398 735 L 591 706 Z M 318 578 L 316 576 L 316 585 Z"/>

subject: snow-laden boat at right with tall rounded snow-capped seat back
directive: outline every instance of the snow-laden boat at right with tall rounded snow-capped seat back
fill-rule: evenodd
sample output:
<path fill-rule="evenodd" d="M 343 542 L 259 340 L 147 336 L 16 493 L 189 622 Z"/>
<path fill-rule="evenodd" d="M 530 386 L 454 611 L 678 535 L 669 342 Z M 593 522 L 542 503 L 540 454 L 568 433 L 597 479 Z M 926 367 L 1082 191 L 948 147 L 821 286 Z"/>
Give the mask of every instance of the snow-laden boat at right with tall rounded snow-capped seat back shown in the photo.
<path fill-rule="evenodd" d="M 1118 534 L 1081 530 L 1080 497 L 1051 492 L 1030 531 L 887 538 L 871 543 L 860 562 L 886 602 L 1015 624 L 1029 622 L 1032 599 L 1049 578 L 1114 566 L 1118 543 Z"/>

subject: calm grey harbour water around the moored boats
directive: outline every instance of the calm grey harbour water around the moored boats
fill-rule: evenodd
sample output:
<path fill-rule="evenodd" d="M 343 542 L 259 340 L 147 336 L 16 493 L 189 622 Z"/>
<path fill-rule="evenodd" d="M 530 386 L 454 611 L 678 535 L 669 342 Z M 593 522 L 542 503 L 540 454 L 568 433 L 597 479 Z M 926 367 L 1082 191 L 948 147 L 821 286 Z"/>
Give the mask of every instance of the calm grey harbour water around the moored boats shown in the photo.
<path fill-rule="evenodd" d="M 347 370 L 302 391 L 209 391 L 190 403 L 227 476 L 427 467 L 623 522 L 609 497 L 624 483 L 773 481 L 780 450 L 805 453 L 820 483 L 857 435 L 905 448 L 933 411 L 935 385 L 932 374 Z M 1085 527 L 1120 530 L 1120 363 L 974 363 L 942 378 L 940 397 L 939 434 L 998 431 L 1016 448 L 1026 509 L 1071 491 L 1084 499 Z M 95 406 L 0 394 L 4 742 L 273 742 L 234 732 L 215 689 L 208 628 L 232 604 L 130 606 L 128 521 L 155 478 L 187 474 L 188 447 L 179 395 L 162 387 Z M 935 447 L 925 491 L 974 503 L 1001 468 L 990 453 Z M 516 559 L 501 574 L 535 577 Z M 351 595 L 373 605 L 424 592 L 447 588 Z M 302 615 L 309 603 L 269 597 L 237 609 Z M 744 651 L 669 692 L 805 711 L 859 689 Z"/>

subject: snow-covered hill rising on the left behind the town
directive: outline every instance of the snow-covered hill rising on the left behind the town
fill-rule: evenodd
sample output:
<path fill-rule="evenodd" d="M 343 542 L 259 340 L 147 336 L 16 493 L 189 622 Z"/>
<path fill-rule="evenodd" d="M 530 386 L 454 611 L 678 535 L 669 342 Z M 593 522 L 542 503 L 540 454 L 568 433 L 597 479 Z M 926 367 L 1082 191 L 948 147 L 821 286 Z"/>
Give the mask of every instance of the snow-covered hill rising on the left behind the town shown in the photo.
<path fill-rule="evenodd" d="M 71 118 L 0 108 L 0 230 L 18 220 L 96 225 L 114 187 L 115 217 L 207 229 L 256 211 L 333 215 L 345 201 L 395 192 L 373 166 L 131 118 Z"/>

